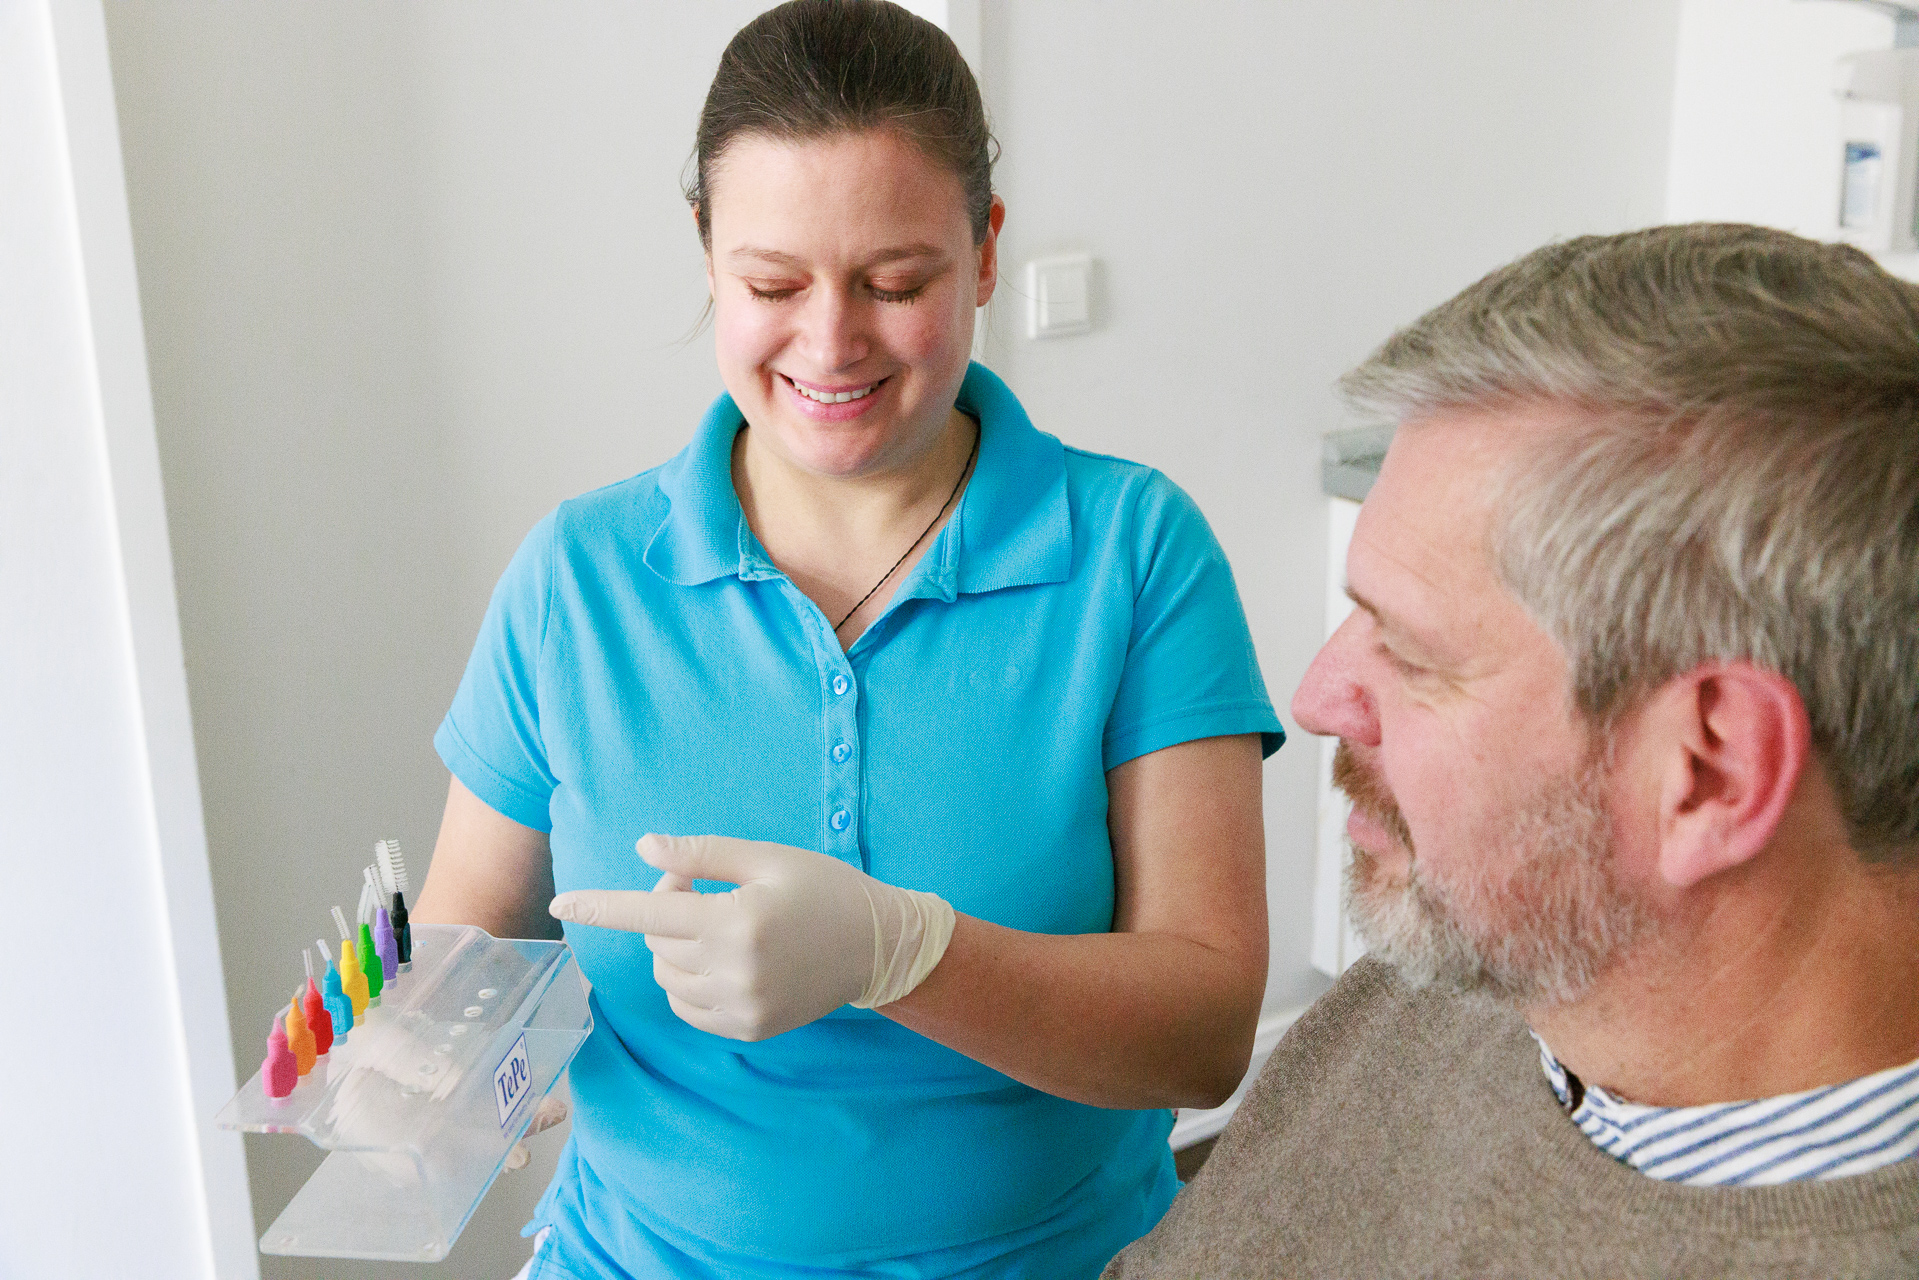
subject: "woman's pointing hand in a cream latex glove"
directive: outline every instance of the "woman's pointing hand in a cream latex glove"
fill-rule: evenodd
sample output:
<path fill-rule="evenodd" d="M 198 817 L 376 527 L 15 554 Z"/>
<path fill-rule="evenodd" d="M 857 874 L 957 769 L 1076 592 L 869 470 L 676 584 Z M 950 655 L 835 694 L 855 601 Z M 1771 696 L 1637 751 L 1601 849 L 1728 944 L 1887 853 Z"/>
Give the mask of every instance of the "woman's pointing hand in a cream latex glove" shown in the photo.
<path fill-rule="evenodd" d="M 649 835 L 637 848 L 666 871 L 652 892 L 580 889 L 549 910 L 647 935 L 674 1013 L 718 1036 L 766 1040 L 842 1004 L 892 1004 L 952 940 L 954 910 L 935 894 L 806 848 L 723 835 Z M 693 892 L 695 879 L 739 889 Z"/>

